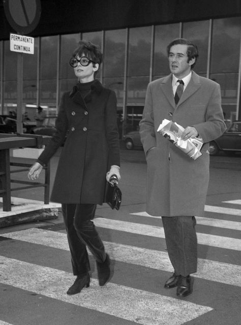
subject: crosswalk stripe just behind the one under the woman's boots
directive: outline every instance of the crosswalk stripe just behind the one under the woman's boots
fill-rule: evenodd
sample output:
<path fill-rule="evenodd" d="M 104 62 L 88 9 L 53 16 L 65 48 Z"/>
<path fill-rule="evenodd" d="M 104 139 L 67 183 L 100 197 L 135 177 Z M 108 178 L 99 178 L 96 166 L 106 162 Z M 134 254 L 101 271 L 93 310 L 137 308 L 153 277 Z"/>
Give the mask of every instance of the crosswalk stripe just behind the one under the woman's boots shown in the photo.
<path fill-rule="evenodd" d="M 4 237 L 33 244 L 69 250 L 66 234 L 32 228 L 3 234 Z M 115 261 L 172 272 L 168 254 L 163 251 L 130 245 L 104 242 Z M 198 271 L 194 277 L 241 286 L 241 266 L 198 258 Z"/>

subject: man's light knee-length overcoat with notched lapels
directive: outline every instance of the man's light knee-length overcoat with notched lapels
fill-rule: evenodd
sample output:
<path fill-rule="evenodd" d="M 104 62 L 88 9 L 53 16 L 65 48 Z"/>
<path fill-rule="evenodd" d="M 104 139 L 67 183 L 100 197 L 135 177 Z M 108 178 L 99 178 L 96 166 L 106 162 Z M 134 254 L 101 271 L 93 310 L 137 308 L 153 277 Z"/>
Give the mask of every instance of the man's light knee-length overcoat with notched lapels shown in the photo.
<path fill-rule="evenodd" d="M 183 127 L 194 126 L 204 142 L 202 155 L 193 160 L 159 134 L 157 129 L 163 119 Z M 172 75 L 149 83 L 140 121 L 147 161 L 147 213 L 154 216 L 203 215 L 209 181 L 209 141 L 220 137 L 225 129 L 218 83 L 192 71 L 177 106 Z"/>

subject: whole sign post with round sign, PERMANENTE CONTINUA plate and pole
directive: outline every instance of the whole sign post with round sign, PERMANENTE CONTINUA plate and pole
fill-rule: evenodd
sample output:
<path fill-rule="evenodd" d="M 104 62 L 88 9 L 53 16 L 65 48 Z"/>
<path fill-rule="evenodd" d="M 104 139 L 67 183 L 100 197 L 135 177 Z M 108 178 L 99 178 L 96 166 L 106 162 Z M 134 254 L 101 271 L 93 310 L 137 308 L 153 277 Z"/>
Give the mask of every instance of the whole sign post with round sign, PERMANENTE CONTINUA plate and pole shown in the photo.
<path fill-rule="evenodd" d="M 41 15 L 40 0 L 4 0 L 4 11 L 10 25 L 18 32 L 10 34 L 10 50 L 17 53 L 17 133 L 23 133 L 22 80 L 23 53 L 34 54 L 34 38 L 24 36 L 33 31 Z M 19 35 L 23 34 L 23 35 Z"/>

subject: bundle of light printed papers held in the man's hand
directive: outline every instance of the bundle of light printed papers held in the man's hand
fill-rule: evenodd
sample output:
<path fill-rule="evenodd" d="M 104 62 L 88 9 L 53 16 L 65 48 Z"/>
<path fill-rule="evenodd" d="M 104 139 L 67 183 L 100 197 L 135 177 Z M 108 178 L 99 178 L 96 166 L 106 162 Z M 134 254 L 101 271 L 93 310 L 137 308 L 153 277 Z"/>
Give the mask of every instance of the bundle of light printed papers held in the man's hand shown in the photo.
<path fill-rule="evenodd" d="M 189 138 L 188 140 L 181 139 L 184 132 L 184 127 L 176 122 L 164 119 L 159 125 L 157 132 L 163 135 L 167 140 L 173 143 L 180 150 L 184 151 L 192 159 L 196 160 L 200 157 L 200 149 L 203 145 L 201 138 Z"/>

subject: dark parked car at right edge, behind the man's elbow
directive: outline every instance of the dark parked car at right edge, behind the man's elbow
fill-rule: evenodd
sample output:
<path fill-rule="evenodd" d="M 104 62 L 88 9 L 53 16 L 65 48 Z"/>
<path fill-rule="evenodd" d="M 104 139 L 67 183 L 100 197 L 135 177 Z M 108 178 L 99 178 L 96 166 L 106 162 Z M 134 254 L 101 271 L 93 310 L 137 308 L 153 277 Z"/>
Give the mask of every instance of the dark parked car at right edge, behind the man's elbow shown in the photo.
<path fill-rule="evenodd" d="M 220 150 L 226 153 L 241 151 L 241 121 L 233 121 L 221 137 L 210 142 L 211 156 L 217 155 Z"/>

